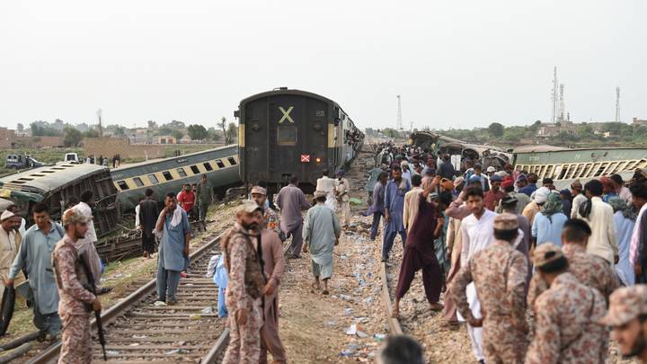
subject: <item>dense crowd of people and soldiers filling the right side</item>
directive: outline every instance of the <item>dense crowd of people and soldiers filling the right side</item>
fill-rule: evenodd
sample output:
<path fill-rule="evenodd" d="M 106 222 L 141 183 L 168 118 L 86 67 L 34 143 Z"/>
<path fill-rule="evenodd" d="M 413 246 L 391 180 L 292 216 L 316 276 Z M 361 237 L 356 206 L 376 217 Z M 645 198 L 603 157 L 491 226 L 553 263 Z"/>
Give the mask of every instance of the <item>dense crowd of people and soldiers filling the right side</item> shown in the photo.
<path fill-rule="evenodd" d="M 466 323 L 479 362 L 605 362 L 609 328 L 623 354 L 647 359 L 645 182 L 556 191 L 510 164 L 483 173 L 412 146 L 385 145 L 377 161 L 368 214 L 373 239 L 385 220 L 382 261 L 400 267 L 394 317 L 422 271 L 430 309 Z M 396 235 L 403 258 L 390 262 Z"/>

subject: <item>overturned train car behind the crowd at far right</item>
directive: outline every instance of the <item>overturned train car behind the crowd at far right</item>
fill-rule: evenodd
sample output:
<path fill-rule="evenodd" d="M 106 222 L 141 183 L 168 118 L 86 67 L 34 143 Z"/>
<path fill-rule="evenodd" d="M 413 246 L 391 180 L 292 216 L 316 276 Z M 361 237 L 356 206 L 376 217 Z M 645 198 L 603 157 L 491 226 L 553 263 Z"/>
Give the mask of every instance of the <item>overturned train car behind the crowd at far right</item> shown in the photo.
<path fill-rule="evenodd" d="M 647 149 L 644 148 L 520 146 L 513 154 L 515 170 L 536 173 L 539 181 L 552 178 L 555 186 L 563 188 L 575 180 L 585 183 L 614 173 L 629 176 L 636 169 L 647 168 Z"/>

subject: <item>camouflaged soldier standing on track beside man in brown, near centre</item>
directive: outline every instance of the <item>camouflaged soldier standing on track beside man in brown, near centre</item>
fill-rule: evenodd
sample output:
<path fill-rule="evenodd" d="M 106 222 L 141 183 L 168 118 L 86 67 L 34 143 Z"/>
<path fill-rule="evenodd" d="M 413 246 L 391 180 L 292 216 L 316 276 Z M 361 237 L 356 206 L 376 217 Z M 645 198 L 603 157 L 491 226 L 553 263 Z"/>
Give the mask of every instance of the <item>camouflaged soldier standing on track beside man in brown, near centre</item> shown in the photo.
<path fill-rule="evenodd" d="M 225 364 L 259 362 L 261 297 L 265 287 L 262 249 L 259 246 L 262 209 L 253 200 L 245 200 L 236 212 L 236 223 L 222 239 L 229 283 L 226 306 L 229 310 L 229 346 Z"/>

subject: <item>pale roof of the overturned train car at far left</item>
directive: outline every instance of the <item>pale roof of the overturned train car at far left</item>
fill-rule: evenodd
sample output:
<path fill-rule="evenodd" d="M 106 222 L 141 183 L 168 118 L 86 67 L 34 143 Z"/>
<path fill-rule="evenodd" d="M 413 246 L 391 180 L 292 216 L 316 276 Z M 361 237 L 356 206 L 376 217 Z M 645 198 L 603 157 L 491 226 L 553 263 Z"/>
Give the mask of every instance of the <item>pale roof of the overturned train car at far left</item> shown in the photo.
<path fill-rule="evenodd" d="M 13 191 L 44 193 L 107 171 L 108 167 L 98 164 L 59 163 L 5 176 L 0 178 L 0 186 Z"/>

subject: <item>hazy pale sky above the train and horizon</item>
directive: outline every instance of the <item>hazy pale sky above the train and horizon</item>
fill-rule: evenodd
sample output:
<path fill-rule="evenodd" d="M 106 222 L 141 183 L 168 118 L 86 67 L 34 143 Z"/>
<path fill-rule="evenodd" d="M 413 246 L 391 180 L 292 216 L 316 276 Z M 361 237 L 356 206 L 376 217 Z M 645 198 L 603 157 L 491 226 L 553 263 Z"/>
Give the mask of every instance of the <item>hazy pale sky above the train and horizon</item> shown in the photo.
<path fill-rule="evenodd" d="M 3 1 L 0 126 L 215 126 L 288 86 L 360 128 L 647 119 L 647 1 Z"/>

